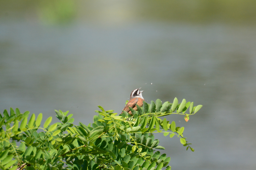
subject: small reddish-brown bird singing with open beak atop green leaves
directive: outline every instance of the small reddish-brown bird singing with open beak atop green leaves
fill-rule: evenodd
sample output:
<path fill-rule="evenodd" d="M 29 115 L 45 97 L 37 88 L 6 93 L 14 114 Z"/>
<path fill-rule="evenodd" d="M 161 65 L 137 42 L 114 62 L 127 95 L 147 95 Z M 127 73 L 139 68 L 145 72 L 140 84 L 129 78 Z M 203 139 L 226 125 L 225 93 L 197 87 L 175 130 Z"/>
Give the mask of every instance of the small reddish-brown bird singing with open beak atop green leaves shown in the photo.
<path fill-rule="evenodd" d="M 129 107 L 133 108 L 135 111 L 137 111 L 137 106 L 142 107 L 143 106 L 143 97 L 142 97 L 142 92 L 143 91 L 139 91 L 140 88 L 135 89 L 132 91 L 131 93 L 131 97 L 129 102 L 126 104 L 126 106 L 124 107 L 123 111 L 128 112 L 131 116 L 132 116 L 132 112 L 130 111 Z M 123 113 L 123 112 L 122 112 Z"/>

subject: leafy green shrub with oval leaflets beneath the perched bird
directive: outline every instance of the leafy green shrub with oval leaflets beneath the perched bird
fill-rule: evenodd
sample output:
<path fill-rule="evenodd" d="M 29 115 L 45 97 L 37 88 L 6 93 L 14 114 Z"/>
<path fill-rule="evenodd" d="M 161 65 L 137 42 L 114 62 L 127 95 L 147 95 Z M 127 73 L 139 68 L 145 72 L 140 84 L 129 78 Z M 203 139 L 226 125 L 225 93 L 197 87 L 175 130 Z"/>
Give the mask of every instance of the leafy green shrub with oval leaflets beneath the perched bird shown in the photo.
<path fill-rule="evenodd" d="M 190 148 L 183 137 L 184 127 L 176 127 L 162 116 L 183 114 L 188 117 L 195 114 L 202 105 L 194 106 L 183 99 L 178 104 L 161 100 L 144 102 L 138 111 L 117 115 L 113 110 L 95 111 L 93 123 L 88 126 L 79 122 L 73 125 L 72 114 L 57 111 L 58 123 L 50 125 L 52 117 L 43 123 L 42 114 L 37 118 L 29 112 L 15 112 L 10 108 L 10 115 L 4 110 L 0 114 L 0 168 L 28 170 L 160 170 L 163 167 L 170 170 L 170 157 L 155 149 L 165 149 L 159 146 L 159 140 L 154 133 L 163 133 L 170 138 L 177 136 L 180 143 Z M 189 114 L 185 114 L 189 108 Z M 176 111 L 177 110 L 177 111 Z M 174 113 L 176 111 L 176 113 Z M 194 112 L 194 113 L 193 113 Z M 185 119 L 186 120 L 186 119 Z M 43 127 L 41 126 L 43 125 Z M 19 145 L 17 146 L 17 142 Z"/>

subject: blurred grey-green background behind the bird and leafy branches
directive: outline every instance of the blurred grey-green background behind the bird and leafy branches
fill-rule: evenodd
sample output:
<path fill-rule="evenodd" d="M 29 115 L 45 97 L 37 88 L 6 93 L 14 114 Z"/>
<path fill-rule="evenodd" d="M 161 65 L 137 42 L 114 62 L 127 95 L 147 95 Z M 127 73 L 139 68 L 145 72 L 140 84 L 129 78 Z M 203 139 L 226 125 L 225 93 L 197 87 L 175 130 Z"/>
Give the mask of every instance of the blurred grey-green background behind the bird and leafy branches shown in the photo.
<path fill-rule="evenodd" d="M 256 1 L 0 1 L 0 112 L 92 122 L 132 90 L 203 107 L 158 135 L 172 169 L 255 169 Z M 151 84 L 152 83 L 152 84 Z"/>

